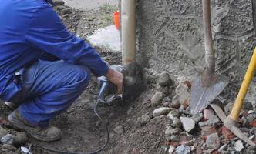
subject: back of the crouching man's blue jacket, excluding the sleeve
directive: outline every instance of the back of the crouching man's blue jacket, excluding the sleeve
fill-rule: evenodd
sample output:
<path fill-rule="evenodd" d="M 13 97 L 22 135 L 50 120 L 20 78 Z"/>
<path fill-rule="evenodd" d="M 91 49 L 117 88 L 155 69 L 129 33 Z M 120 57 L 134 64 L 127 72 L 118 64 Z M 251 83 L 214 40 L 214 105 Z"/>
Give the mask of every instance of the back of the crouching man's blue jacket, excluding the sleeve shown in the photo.
<path fill-rule="evenodd" d="M 0 74 L 7 75 L 15 72 L 42 54 L 39 49 L 28 45 L 25 39 L 32 15 L 42 3 L 42 0 L 5 0 L 1 2 Z"/>

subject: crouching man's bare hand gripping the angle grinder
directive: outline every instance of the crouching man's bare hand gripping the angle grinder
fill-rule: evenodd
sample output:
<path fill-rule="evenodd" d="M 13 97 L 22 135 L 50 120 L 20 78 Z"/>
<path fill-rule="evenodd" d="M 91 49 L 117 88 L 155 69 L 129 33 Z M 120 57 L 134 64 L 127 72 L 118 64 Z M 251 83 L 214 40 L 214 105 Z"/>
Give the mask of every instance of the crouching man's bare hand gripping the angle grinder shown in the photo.
<path fill-rule="evenodd" d="M 109 79 L 110 82 L 116 85 L 117 94 L 123 93 L 123 74 L 111 69 L 109 67 L 109 71 L 106 73 L 106 78 Z"/>

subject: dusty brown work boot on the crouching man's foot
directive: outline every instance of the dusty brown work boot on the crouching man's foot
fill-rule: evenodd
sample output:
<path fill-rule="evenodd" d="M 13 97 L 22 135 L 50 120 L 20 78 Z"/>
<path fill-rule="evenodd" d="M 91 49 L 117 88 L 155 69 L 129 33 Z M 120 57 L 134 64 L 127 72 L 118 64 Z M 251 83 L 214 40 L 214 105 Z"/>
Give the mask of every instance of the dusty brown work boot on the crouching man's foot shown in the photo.
<path fill-rule="evenodd" d="M 35 139 L 39 139 L 40 141 L 52 142 L 60 139 L 62 136 L 61 130 L 54 126 L 47 126 L 42 128 L 39 126 L 30 125 L 29 122 L 26 122 L 24 119 L 22 119 L 17 110 L 8 115 L 8 121 L 15 128 L 29 133 L 29 135 Z"/>

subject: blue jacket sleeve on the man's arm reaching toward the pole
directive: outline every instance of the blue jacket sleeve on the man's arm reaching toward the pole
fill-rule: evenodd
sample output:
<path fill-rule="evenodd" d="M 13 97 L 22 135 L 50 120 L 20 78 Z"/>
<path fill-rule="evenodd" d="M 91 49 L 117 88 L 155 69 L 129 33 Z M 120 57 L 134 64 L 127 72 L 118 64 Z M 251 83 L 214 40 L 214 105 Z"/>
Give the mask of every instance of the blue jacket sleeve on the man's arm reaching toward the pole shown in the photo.
<path fill-rule="evenodd" d="M 86 65 L 96 76 L 106 75 L 109 69 L 89 44 L 66 29 L 59 15 L 46 2 L 35 12 L 25 39 L 34 48 L 66 62 Z"/>

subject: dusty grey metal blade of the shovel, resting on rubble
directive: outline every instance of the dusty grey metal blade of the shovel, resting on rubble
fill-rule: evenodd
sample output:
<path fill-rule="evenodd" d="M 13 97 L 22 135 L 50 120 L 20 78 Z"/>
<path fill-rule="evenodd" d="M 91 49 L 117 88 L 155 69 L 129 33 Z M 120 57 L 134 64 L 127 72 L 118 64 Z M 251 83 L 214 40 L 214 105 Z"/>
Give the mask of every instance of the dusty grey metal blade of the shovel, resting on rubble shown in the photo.
<path fill-rule="evenodd" d="M 202 112 L 211 102 L 220 95 L 228 84 L 228 78 L 224 75 L 212 74 L 197 76 L 192 82 L 190 95 L 190 112 L 196 115 Z"/>

